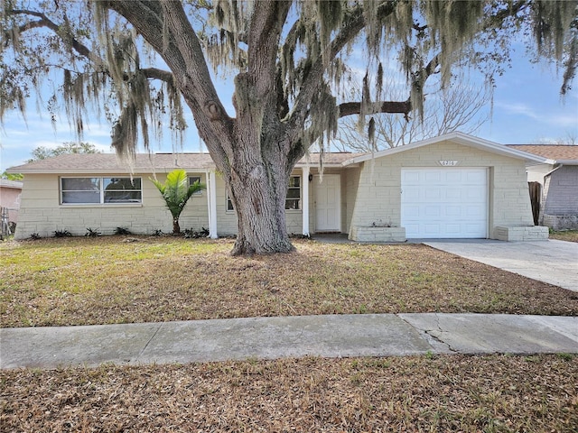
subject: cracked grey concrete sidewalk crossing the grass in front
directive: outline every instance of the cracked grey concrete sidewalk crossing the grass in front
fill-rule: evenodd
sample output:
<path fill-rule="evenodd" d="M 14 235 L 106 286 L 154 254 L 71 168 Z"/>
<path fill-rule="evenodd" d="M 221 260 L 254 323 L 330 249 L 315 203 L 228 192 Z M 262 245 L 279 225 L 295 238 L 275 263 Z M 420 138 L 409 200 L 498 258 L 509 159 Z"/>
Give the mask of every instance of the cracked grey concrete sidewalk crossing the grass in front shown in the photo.
<path fill-rule="evenodd" d="M 0 329 L 0 368 L 298 356 L 578 354 L 578 318 L 364 314 Z"/>

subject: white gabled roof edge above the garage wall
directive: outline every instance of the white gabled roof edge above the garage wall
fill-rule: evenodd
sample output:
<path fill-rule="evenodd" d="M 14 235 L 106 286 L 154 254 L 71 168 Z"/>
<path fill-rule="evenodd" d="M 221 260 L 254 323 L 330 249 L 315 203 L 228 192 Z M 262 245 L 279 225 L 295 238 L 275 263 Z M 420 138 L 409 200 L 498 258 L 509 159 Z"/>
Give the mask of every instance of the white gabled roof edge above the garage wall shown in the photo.
<path fill-rule="evenodd" d="M 542 156 L 538 156 L 533 153 L 523 152 L 517 149 L 510 149 L 508 146 L 504 144 L 489 142 L 488 140 L 484 140 L 478 137 L 474 137 L 469 134 L 463 134 L 459 132 L 450 133 L 450 134 L 443 134 L 438 137 L 429 138 L 427 140 L 422 140 L 420 142 L 406 144 L 404 146 L 394 147 L 391 149 L 387 149 L 381 152 L 375 152 L 373 154 L 366 153 L 362 156 L 352 158 L 349 161 L 346 161 L 343 165 L 350 165 L 354 163 L 359 163 L 363 161 L 368 161 L 371 158 L 380 158 L 382 156 L 393 155 L 397 152 L 406 152 L 412 149 L 417 149 L 423 146 L 427 146 L 433 143 L 441 143 L 444 141 L 451 141 L 453 143 L 458 143 L 465 146 L 474 147 L 480 149 L 482 151 L 498 153 L 504 156 L 509 156 L 512 158 L 517 158 L 519 160 L 525 160 L 527 163 L 545 163 L 547 161 L 546 158 Z"/>

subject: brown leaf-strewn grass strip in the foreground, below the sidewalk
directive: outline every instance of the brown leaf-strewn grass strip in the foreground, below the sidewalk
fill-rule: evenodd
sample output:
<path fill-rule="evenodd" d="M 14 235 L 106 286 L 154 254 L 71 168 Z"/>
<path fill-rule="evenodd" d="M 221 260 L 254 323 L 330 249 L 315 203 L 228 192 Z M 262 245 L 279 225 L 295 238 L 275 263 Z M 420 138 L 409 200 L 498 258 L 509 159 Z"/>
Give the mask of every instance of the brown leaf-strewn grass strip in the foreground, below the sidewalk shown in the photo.
<path fill-rule="evenodd" d="M 575 431 L 578 357 L 284 359 L 0 372 L 4 431 Z"/>

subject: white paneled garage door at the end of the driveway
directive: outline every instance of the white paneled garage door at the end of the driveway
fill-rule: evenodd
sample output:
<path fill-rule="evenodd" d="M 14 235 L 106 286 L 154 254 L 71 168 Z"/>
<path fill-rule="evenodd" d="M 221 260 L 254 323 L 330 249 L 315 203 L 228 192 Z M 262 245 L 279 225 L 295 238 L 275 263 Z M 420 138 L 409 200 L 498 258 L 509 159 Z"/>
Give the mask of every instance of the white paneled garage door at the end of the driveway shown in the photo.
<path fill-rule="evenodd" d="M 407 238 L 488 236 L 486 169 L 403 169 L 401 226 Z"/>

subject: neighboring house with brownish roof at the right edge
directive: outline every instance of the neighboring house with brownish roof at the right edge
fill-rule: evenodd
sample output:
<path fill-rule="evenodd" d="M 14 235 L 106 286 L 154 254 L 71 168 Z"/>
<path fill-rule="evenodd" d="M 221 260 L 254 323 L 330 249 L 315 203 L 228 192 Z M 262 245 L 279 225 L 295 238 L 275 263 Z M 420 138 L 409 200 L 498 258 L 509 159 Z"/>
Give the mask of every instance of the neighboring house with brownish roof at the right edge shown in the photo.
<path fill-rule="evenodd" d="M 511 144 L 511 149 L 547 159 L 527 167 L 528 182 L 540 185 L 538 223 L 555 230 L 578 228 L 578 145 Z"/>

